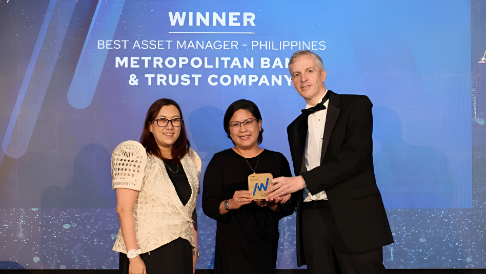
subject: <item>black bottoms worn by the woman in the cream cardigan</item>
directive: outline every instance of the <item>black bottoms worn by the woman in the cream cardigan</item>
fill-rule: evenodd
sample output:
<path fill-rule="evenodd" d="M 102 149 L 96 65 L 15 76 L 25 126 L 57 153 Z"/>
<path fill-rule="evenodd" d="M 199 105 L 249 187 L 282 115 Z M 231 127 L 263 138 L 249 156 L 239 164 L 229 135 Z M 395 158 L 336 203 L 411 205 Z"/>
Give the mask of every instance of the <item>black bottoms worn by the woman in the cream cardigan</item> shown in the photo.
<path fill-rule="evenodd" d="M 139 255 L 147 274 L 192 274 L 192 246 L 188 240 L 177 238 L 152 251 Z M 120 252 L 119 273 L 128 274 L 130 260 Z"/>

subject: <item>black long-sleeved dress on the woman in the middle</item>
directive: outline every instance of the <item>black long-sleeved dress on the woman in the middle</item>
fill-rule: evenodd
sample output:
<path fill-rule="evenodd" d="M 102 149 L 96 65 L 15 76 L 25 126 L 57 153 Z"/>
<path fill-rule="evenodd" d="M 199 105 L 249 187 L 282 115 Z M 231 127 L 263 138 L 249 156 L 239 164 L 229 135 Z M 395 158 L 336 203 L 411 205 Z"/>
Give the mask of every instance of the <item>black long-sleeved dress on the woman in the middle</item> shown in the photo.
<path fill-rule="evenodd" d="M 274 178 L 292 176 L 289 162 L 281 153 L 265 150 L 259 158 L 247 158 L 247 161 L 229 149 L 216 153 L 206 169 L 202 210 L 217 221 L 214 274 L 273 273 L 277 262 L 278 220 L 294 212 L 296 199 L 280 204 L 278 213 L 251 202 L 219 215 L 222 201 L 232 198 L 235 191 L 248 190 L 248 176 L 255 165 L 256 173 L 271 173 Z"/>

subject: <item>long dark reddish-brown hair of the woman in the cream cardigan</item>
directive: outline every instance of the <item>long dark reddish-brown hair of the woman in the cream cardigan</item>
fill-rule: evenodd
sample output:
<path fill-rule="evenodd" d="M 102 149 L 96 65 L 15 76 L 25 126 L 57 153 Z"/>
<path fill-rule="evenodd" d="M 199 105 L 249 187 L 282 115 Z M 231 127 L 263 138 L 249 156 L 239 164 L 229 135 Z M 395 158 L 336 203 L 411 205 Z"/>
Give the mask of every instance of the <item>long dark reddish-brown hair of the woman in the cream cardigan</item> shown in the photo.
<path fill-rule="evenodd" d="M 147 116 L 145 117 L 145 124 L 144 124 L 144 131 L 142 132 L 142 135 L 140 136 L 140 143 L 144 146 L 147 147 L 147 152 L 162 159 L 162 160 L 169 160 L 165 159 L 162 157 L 160 154 L 160 151 L 158 150 L 158 145 L 157 142 L 155 141 L 155 138 L 153 134 L 150 132 L 150 123 L 152 123 L 155 120 L 155 117 L 159 113 L 160 109 L 164 106 L 174 106 L 177 108 L 177 110 L 180 113 L 180 119 L 183 119 L 182 124 L 180 125 L 180 135 L 179 138 L 175 141 L 175 143 L 172 145 L 172 161 L 175 163 L 180 163 L 180 159 L 184 158 L 186 154 L 189 151 L 189 147 L 191 144 L 189 143 L 189 140 L 187 139 L 187 134 L 186 134 L 186 125 L 184 124 L 184 118 L 182 115 L 182 112 L 180 111 L 179 105 L 171 99 L 158 99 L 156 100 L 152 106 L 150 106 L 149 111 L 147 112 Z M 158 125 L 155 124 L 157 127 Z M 170 161 L 170 160 L 169 160 Z"/>

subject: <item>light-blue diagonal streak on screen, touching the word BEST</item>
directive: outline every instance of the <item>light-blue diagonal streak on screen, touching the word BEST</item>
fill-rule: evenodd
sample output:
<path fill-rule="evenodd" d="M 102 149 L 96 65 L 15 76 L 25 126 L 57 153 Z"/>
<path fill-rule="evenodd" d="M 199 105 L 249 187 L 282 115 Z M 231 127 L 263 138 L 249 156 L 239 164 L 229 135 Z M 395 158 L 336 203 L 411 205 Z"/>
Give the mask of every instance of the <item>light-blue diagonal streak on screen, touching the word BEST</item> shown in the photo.
<path fill-rule="evenodd" d="M 125 1 L 99 1 L 68 91 L 68 101 L 76 109 L 88 107 L 103 71 L 108 50 L 96 50 L 97 39 L 112 39 Z"/>

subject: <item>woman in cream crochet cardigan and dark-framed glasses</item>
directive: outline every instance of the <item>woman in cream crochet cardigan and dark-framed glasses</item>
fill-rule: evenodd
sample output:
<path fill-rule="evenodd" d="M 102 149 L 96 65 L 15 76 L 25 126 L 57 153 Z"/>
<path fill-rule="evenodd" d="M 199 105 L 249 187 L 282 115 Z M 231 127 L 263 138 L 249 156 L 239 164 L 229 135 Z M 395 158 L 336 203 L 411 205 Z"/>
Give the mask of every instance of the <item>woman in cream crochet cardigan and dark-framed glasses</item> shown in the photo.
<path fill-rule="evenodd" d="M 189 147 L 178 104 L 155 101 L 140 139 L 119 144 L 112 156 L 120 272 L 194 273 L 201 160 Z"/>

